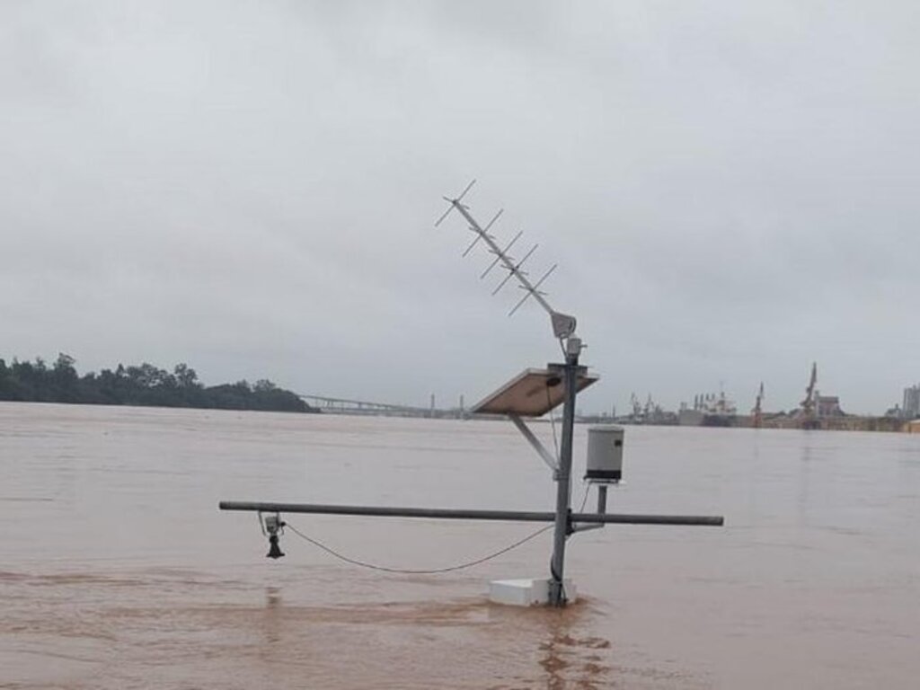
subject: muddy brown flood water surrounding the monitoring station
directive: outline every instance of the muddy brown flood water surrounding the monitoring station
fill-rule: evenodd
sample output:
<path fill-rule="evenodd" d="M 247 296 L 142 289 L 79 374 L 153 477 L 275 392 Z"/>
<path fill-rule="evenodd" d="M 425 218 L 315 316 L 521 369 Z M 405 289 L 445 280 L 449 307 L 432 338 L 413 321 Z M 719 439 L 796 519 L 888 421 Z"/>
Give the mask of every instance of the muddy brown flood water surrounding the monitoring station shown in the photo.
<path fill-rule="evenodd" d="M 0 686 L 920 686 L 920 436 L 633 427 L 626 450 L 611 512 L 726 526 L 575 535 L 579 603 L 517 609 L 489 604 L 488 581 L 545 576 L 551 532 L 473 569 L 400 575 L 290 531 L 270 560 L 255 514 L 217 510 L 552 510 L 549 471 L 510 423 L 0 403 Z M 406 569 L 540 526 L 285 517 Z"/>

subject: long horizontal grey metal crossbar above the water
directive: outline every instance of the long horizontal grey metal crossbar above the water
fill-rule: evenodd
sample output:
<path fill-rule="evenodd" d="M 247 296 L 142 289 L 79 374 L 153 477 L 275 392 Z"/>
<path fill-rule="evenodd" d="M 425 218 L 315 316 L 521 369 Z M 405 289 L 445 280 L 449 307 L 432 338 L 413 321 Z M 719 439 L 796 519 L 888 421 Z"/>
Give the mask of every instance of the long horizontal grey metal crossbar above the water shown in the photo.
<path fill-rule="evenodd" d="M 391 506 L 318 505 L 310 503 L 260 503 L 222 500 L 222 511 L 309 512 L 324 515 L 364 515 L 370 517 L 429 518 L 432 520 L 499 520 L 524 523 L 552 523 L 555 512 L 482 511 L 463 508 L 400 508 Z M 573 512 L 572 523 L 603 524 L 677 524 L 720 527 L 721 515 L 632 515 L 617 513 Z"/>

